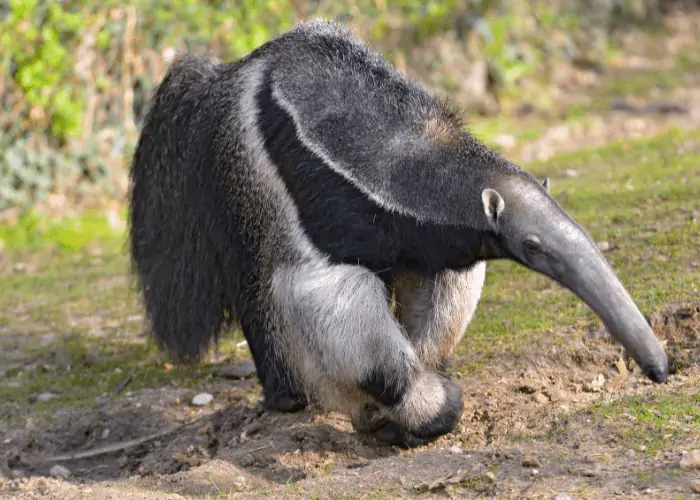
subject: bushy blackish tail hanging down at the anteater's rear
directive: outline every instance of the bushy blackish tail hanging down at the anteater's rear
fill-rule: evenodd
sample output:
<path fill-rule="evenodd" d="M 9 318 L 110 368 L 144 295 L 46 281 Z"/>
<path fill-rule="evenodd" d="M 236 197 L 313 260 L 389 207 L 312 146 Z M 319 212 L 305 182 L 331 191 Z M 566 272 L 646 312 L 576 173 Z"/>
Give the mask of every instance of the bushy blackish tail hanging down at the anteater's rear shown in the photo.
<path fill-rule="evenodd" d="M 130 256 L 151 334 L 176 361 L 199 358 L 227 321 L 222 269 L 204 204 L 218 65 L 187 55 L 151 99 L 131 164 Z M 208 192 L 207 192 L 208 191 Z"/>

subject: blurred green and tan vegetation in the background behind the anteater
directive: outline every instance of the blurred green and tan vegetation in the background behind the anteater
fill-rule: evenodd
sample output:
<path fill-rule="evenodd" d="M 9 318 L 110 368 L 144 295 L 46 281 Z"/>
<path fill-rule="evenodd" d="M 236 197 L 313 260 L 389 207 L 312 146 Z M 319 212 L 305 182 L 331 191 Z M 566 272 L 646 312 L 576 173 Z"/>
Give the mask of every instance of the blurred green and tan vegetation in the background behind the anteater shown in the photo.
<path fill-rule="evenodd" d="M 119 198 L 138 119 L 176 52 L 240 58 L 309 17 L 351 24 L 400 70 L 493 112 L 558 62 L 600 63 L 663 0 L 0 0 L 0 210 Z"/>

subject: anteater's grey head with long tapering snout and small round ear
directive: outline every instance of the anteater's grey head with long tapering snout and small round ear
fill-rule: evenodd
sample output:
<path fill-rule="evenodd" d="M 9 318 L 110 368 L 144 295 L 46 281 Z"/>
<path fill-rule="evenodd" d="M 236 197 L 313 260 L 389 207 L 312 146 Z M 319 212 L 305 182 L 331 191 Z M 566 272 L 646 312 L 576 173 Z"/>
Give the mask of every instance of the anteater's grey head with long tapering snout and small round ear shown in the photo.
<path fill-rule="evenodd" d="M 485 257 L 511 259 L 565 286 L 598 314 L 651 380 L 668 378 L 659 340 L 591 237 L 552 198 L 548 180 L 503 174 L 480 195 L 490 227 Z"/>

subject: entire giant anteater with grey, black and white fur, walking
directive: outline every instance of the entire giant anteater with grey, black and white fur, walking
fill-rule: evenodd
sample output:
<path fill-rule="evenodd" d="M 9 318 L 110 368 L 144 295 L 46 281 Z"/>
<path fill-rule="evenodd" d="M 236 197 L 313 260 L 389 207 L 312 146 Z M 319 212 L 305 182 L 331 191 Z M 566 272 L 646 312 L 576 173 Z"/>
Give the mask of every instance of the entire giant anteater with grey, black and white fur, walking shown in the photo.
<path fill-rule="evenodd" d="M 638 311 L 548 181 L 339 25 L 302 23 L 232 63 L 178 58 L 131 179 L 131 257 L 154 337 L 196 359 L 237 324 L 269 409 L 317 401 L 402 446 L 450 432 L 462 391 L 441 370 L 486 261 L 577 291 L 564 271 L 588 279 L 581 259 L 550 269 L 569 242 L 617 294 L 606 311 L 621 341 L 664 378 L 655 339 L 624 333 L 620 318 Z M 539 260 L 520 251 L 533 235 Z"/>

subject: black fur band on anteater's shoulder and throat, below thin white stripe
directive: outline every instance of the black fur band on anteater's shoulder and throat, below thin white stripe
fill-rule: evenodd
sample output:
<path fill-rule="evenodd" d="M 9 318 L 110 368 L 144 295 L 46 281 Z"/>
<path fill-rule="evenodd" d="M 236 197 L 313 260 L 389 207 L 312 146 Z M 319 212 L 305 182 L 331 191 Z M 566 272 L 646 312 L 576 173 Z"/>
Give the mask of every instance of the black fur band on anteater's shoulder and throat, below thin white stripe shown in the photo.
<path fill-rule="evenodd" d="M 257 101 L 268 154 L 294 197 L 307 235 L 332 261 L 375 272 L 413 269 L 429 276 L 477 259 L 484 231 L 389 211 L 329 169 L 302 143 L 292 117 L 273 98 L 270 72 Z M 432 158 L 421 161 L 425 165 L 405 165 L 406 175 L 431 168 Z"/>

